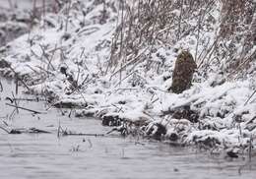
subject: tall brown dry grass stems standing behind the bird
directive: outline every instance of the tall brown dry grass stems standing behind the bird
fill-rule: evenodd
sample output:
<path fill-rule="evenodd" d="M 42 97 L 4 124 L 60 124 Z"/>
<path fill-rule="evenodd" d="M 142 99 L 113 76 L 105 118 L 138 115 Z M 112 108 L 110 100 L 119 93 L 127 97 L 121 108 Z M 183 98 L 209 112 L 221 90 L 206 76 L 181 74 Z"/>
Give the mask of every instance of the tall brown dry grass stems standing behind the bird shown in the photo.
<path fill-rule="evenodd" d="M 255 51 L 251 51 L 256 36 L 255 6 L 252 0 L 120 1 L 107 72 L 119 74 L 121 81 L 123 70 L 133 71 L 141 62 L 150 61 L 160 46 L 172 46 L 192 35 L 197 39 L 198 66 L 209 69 L 213 63 L 225 64 L 232 76 L 255 59 Z M 216 8 L 221 12 L 220 19 L 210 14 Z M 213 42 L 205 42 L 201 37 L 211 26 L 219 26 L 219 31 Z M 204 49 L 199 51 L 202 44 Z M 242 50 L 238 50 L 239 46 Z"/>

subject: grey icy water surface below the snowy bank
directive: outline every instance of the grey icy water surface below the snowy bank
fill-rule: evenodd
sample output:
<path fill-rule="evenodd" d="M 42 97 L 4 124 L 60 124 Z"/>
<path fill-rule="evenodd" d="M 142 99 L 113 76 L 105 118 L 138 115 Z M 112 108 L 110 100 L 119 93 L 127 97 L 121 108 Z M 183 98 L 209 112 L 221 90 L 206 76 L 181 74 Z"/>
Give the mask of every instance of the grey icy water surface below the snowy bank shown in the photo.
<path fill-rule="evenodd" d="M 9 102 L 5 97 L 12 95 L 11 91 L 15 88 L 3 79 L 1 82 L 4 91 L 0 92 L 0 126 L 6 129 L 35 127 L 51 132 L 10 135 L 0 129 L 1 179 L 247 179 L 256 176 L 255 158 L 250 165 L 242 167 L 239 174 L 239 168 L 246 163 L 246 159 L 224 159 L 196 152 L 195 149 L 124 139 L 118 134 L 58 138 L 59 124 L 64 129 L 88 134 L 105 134 L 110 128 L 102 127 L 96 119 L 63 116 L 56 109 L 41 115 L 19 110 L 19 114 L 10 118 L 14 108 L 5 105 Z M 43 102 L 20 102 L 19 105 L 38 111 L 45 109 Z"/>

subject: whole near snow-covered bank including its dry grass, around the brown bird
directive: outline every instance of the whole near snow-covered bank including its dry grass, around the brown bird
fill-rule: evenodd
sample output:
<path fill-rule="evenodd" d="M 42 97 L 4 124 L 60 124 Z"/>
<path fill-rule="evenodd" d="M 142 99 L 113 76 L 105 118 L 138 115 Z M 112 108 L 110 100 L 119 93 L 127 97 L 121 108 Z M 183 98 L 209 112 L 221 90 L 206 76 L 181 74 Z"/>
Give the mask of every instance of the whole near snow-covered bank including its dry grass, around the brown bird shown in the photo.
<path fill-rule="evenodd" d="M 129 2 L 73 1 L 48 13 L 0 49 L 2 73 L 15 71 L 52 106 L 75 107 L 77 116 L 94 115 L 123 134 L 217 149 L 256 146 L 256 46 L 247 38 L 255 8 L 251 23 L 237 20 L 248 36 L 229 36 L 220 1 L 200 1 L 201 9 L 175 1 L 167 17 L 156 13 L 165 8 L 160 1 L 153 9 Z M 173 24 L 164 17 L 174 17 Z M 183 49 L 199 68 L 193 86 L 175 94 L 167 89 Z"/>

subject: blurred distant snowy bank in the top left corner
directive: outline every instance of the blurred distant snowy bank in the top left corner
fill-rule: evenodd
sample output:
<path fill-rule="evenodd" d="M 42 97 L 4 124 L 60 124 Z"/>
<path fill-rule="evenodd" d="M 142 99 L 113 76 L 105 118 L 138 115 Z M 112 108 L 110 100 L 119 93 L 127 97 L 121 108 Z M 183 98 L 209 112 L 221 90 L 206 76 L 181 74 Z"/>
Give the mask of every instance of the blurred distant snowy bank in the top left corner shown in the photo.
<path fill-rule="evenodd" d="M 0 0 L 0 47 L 30 32 L 44 12 L 57 8 L 53 1 Z"/>

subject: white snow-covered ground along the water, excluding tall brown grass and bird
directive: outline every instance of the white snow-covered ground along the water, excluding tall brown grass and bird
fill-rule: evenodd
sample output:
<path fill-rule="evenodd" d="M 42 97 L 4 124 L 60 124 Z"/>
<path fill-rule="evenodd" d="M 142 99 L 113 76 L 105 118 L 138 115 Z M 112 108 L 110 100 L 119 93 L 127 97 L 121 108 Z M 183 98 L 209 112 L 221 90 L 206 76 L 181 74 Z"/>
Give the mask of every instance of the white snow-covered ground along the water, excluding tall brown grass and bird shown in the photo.
<path fill-rule="evenodd" d="M 57 15 L 47 14 L 30 33 L 0 49 L 2 73 L 13 76 L 14 70 L 29 92 L 46 95 L 52 106 L 75 107 L 77 116 L 98 117 L 105 125 L 118 126 L 121 133 L 233 152 L 256 146 L 254 76 L 227 79 L 220 72 L 223 66 L 214 62 L 207 78 L 203 71 L 195 75 L 191 89 L 181 94 L 166 91 L 180 47 L 190 46 L 193 55 L 196 48 L 204 49 L 191 36 L 174 46 L 160 46 L 152 61 L 135 56 L 111 68 L 115 7 L 111 0 L 74 1 Z M 213 12 L 214 18 L 220 16 Z M 215 27 L 212 30 L 205 32 L 210 41 L 216 32 Z M 149 48 L 142 48 L 138 56 L 147 53 Z M 152 68 L 147 70 L 148 66 Z"/>

